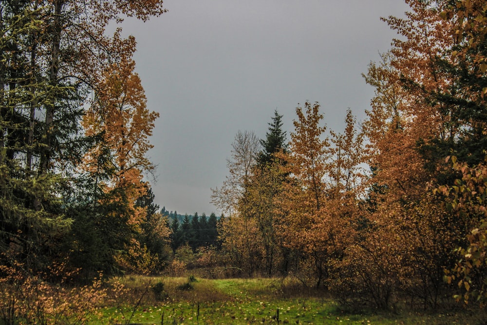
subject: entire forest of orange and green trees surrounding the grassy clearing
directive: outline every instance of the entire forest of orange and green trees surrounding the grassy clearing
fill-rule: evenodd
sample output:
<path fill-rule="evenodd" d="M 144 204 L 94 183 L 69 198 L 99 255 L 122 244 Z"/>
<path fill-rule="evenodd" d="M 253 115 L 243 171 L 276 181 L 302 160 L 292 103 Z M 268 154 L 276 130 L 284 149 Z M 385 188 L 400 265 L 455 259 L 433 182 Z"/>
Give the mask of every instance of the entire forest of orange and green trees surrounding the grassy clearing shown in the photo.
<path fill-rule="evenodd" d="M 0 0 L 0 324 L 85 324 L 135 275 L 294 281 L 352 309 L 482 309 L 487 4 L 406 3 L 383 19 L 391 49 L 364 67 L 364 121 L 347 110 L 331 130 L 305 101 L 289 137 L 277 110 L 262 139 L 236 130 L 212 189 L 223 215 L 181 221 L 150 187 L 158 114 L 135 39 L 107 33 L 163 15 L 162 1 Z"/>

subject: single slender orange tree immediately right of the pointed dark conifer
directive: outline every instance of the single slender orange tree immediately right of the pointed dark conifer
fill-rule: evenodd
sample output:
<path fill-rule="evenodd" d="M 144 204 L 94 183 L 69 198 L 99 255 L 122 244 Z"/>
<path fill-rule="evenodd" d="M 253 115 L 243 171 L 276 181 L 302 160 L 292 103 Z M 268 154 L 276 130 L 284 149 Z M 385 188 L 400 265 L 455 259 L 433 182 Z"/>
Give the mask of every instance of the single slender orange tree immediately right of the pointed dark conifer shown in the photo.
<path fill-rule="evenodd" d="M 303 108 L 296 108 L 298 118 L 293 121 L 295 131 L 291 133 L 289 154 L 281 155 L 286 162 L 284 171 L 289 181 L 284 183 L 280 198 L 279 216 L 280 240 L 289 249 L 306 253 L 312 259 L 316 270 L 317 287 L 327 276 L 327 252 L 318 249 L 313 229 L 322 217 L 325 201 L 327 150 L 329 141 L 322 138 L 326 127 L 319 126 L 323 115 L 319 113 L 318 103 L 304 103 Z M 319 242 L 327 240 L 327 234 L 321 234 Z"/>

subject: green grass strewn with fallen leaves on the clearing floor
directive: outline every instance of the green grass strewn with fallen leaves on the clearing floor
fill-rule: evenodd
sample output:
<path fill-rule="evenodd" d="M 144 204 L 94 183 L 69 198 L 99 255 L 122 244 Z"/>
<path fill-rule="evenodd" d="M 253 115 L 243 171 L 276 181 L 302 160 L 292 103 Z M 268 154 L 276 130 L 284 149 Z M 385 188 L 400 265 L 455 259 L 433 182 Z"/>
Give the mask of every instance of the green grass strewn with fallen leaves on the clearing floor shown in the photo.
<path fill-rule="evenodd" d="M 127 277 L 119 303 L 100 309 L 90 324 L 485 324 L 485 312 L 345 312 L 322 292 L 278 279 Z M 162 281 L 168 298 L 157 301 L 150 286 Z M 142 297 L 142 299 L 140 299 Z M 137 305 L 137 303 L 140 303 Z M 132 314 L 133 313 L 133 314 Z"/>

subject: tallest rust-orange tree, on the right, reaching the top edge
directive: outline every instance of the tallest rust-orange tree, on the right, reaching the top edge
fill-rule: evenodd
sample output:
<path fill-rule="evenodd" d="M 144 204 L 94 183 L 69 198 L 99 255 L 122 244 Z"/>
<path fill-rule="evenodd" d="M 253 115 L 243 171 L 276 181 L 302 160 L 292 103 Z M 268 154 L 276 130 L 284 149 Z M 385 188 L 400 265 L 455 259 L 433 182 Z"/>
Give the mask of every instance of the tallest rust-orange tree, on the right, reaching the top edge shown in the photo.
<path fill-rule="evenodd" d="M 368 209 L 372 214 L 362 231 L 364 240 L 356 246 L 357 260 L 376 267 L 360 270 L 370 286 L 353 290 L 376 298 L 378 292 L 387 292 L 375 306 L 387 307 L 391 297 L 406 294 L 412 302 L 434 308 L 445 297 L 442 277 L 454 263 L 451 251 L 465 241 L 470 221 L 453 217 L 431 189 L 451 186 L 459 178 L 457 170 L 445 165 L 450 153 L 460 161 L 483 160 L 483 61 L 476 52 L 482 41 L 473 45 L 480 34 L 473 35 L 483 27 L 476 27 L 477 20 L 465 20 L 478 19 L 480 13 L 481 7 L 471 1 L 406 2 L 411 12 L 405 18 L 384 19 L 401 37 L 365 76 L 375 87 L 364 123 L 368 161 L 374 168 L 370 184 L 382 190 L 369 192 L 374 208 Z M 464 42 L 468 38 L 472 41 Z"/>

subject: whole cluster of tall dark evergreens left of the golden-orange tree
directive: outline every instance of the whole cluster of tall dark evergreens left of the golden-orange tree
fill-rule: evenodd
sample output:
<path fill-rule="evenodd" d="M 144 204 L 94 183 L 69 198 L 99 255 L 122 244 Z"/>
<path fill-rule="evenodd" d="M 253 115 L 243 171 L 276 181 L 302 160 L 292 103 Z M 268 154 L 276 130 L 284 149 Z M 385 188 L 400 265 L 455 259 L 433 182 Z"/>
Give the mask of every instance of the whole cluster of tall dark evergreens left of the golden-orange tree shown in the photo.
<path fill-rule="evenodd" d="M 0 1 L 2 262 L 36 271 L 70 256 L 70 263 L 111 273 L 107 256 L 130 236 L 130 215 L 115 218 L 115 211 L 136 197 L 128 202 L 126 193 L 103 191 L 113 176 L 108 146 L 100 144 L 103 136 L 86 134 L 81 119 L 105 68 L 131 61 L 135 49 L 119 30 L 107 36 L 109 22 L 164 11 L 159 0 Z M 94 147 L 93 168 L 83 170 Z M 96 236 L 108 238 L 106 245 Z"/>

